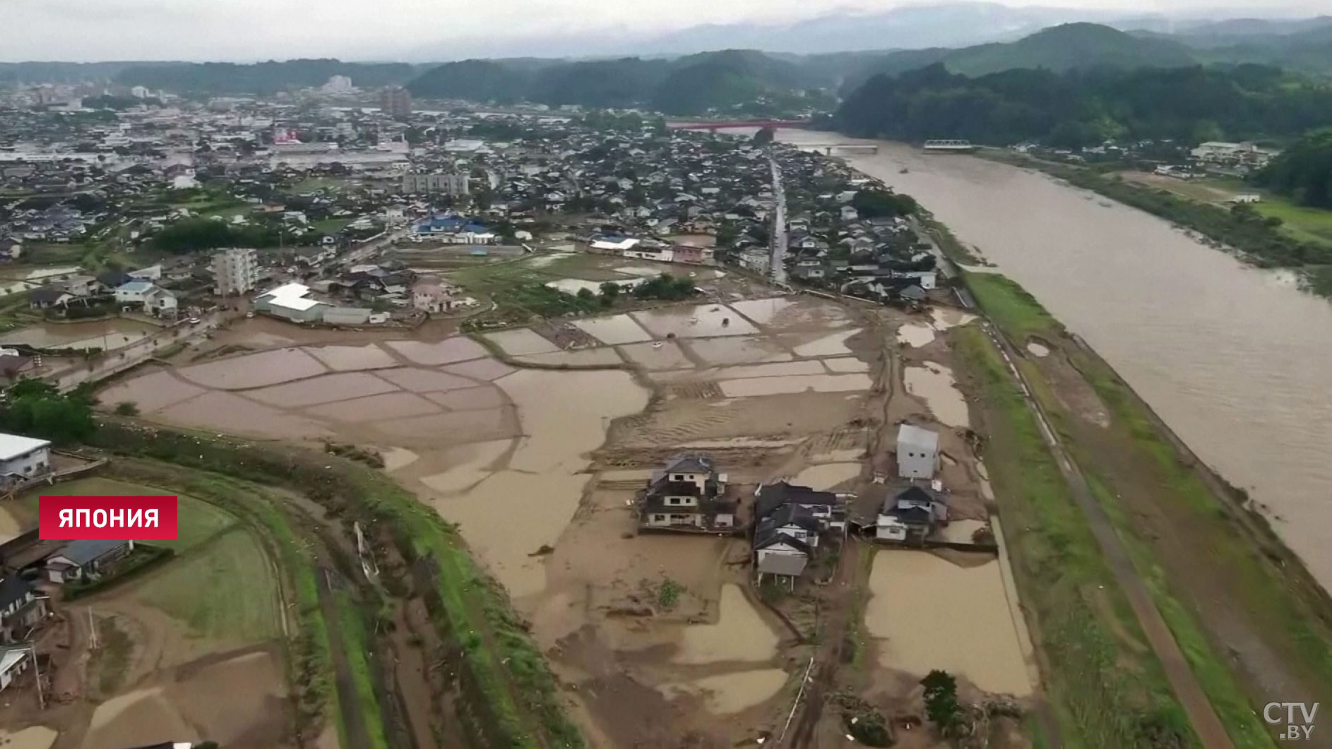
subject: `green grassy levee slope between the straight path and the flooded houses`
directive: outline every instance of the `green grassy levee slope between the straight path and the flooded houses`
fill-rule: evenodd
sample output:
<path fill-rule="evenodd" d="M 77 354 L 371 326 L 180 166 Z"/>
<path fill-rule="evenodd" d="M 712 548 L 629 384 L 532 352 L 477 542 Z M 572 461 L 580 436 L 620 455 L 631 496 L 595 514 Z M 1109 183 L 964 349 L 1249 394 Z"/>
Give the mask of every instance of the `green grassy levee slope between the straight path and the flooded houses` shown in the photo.
<path fill-rule="evenodd" d="M 998 350 L 975 326 L 952 335 L 1064 745 L 1199 746 Z"/>

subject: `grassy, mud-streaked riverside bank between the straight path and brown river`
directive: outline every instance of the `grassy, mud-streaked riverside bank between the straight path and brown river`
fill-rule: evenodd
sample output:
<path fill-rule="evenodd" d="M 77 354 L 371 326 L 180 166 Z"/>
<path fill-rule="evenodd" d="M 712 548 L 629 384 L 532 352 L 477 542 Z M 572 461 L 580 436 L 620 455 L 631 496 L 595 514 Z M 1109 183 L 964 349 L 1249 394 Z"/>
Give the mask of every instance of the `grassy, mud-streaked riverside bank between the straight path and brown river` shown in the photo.
<path fill-rule="evenodd" d="M 1039 302 L 1000 275 L 964 279 L 1019 349 L 1032 335 L 1058 341 L 1071 369 L 1104 404 L 1110 424 L 1088 426 L 1048 383 L 1031 383 L 1231 738 L 1236 746 L 1273 746 L 1255 710 L 1272 700 L 1332 700 L 1332 601 L 1265 519 L 1245 508 L 1243 492 L 1211 474 Z M 1022 366 L 1040 378 L 1043 367 L 1054 365 Z M 1200 591 L 1201 584 L 1209 587 Z M 1260 645 L 1235 651 L 1235 639 Z M 1296 696 L 1272 693 L 1267 686 L 1273 682 Z"/>

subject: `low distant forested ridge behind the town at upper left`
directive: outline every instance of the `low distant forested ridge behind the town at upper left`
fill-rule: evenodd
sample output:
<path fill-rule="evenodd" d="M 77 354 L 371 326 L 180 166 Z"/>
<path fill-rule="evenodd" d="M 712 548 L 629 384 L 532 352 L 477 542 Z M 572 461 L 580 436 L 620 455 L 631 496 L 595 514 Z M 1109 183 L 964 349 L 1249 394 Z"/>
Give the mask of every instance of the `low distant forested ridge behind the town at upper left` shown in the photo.
<path fill-rule="evenodd" d="M 236 63 L 135 65 L 120 71 L 115 80 L 121 85 L 141 85 L 174 93 L 270 96 L 280 90 L 324 85 L 333 76 L 348 76 L 354 85 L 376 88 L 404 84 L 414 73 L 416 68 L 405 63 L 269 60 L 253 65 Z"/>

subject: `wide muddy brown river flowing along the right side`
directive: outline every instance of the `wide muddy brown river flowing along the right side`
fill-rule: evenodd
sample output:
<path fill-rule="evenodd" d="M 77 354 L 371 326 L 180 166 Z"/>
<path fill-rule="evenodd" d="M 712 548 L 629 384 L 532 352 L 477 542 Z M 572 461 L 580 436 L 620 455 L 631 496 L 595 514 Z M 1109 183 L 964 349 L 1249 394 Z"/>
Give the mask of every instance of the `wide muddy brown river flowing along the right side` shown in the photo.
<path fill-rule="evenodd" d="M 878 154 L 847 161 L 914 196 L 1082 335 L 1200 458 L 1271 508 L 1332 588 L 1332 303 L 1044 174 L 872 142 Z"/>

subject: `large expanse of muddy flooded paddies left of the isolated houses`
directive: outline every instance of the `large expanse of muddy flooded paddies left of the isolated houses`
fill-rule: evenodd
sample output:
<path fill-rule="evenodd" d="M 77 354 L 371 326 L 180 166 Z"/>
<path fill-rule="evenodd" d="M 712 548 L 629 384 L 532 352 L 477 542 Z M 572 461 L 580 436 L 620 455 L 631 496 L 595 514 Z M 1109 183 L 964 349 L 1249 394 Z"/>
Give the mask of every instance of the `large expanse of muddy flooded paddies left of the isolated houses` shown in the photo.
<path fill-rule="evenodd" d="M 785 720 L 798 640 L 753 597 L 743 540 L 639 535 L 634 490 L 666 456 L 702 450 L 733 483 L 856 491 L 894 333 L 859 335 L 870 329 L 854 315 L 774 297 L 550 322 L 574 335 L 486 333 L 513 366 L 464 337 L 330 338 L 107 392 L 185 426 L 377 448 L 503 584 L 603 745 L 678 745 L 689 730 L 730 745 Z M 587 335 L 601 345 L 557 343 Z"/>

